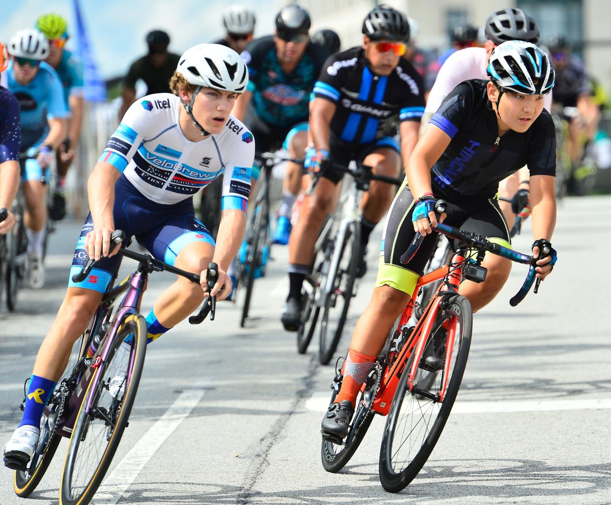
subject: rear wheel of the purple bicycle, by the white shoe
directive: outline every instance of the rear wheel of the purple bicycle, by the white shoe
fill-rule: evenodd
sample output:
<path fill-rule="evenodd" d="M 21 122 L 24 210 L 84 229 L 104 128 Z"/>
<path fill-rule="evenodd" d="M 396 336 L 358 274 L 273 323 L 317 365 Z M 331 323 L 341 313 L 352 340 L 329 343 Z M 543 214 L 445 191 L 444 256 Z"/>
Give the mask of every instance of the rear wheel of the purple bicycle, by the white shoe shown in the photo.
<path fill-rule="evenodd" d="M 27 498 L 27 496 L 31 495 L 31 493 L 36 489 L 38 484 L 40 484 L 40 481 L 42 480 L 43 476 L 45 476 L 46 470 L 49 467 L 54 454 L 56 453 L 57 446 L 62 439 L 62 436 L 55 431 L 57 421 L 62 413 L 57 413 L 56 416 L 51 418 L 50 421 L 49 414 L 55 414 L 57 412 L 56 409 L 59 408 L 59 404 L 62 401 L 61 395 L 64 393 L 61 390 L 62 387 L 65 387 L 63 384 L 64 379 L 75 375 L 75 367 L 85 352 L 85 345 L 89 342 L 88 337 L 89 334 L 87 332 L 84 333 L 72 346 L 66 371 L 62 375 L 62 378 L 57 381 L 58 387 L 56 387 L 55 392 L 49 401 L 50 407 L 48 410 L 45 409 L 45 411 L 43 411 L 40 422 L 42 426 L 40 429 L 40 438 L 38 439 L 37 448 L 32 455 L 32 459 L 30 460 L 29 468 L 26 471 L 15 471 L 15 476 L 13 477 L 13 489 L 15 490 L 15 494 L 21 498 Z M 67 401 L 67 396 L 64 398 L 65 401 Z M 45 444 L 45 447 L 42 450 L 39 450 L 41 442 Z M 32 464 L 35 466 L 33 472 L 31 471 Z"/>

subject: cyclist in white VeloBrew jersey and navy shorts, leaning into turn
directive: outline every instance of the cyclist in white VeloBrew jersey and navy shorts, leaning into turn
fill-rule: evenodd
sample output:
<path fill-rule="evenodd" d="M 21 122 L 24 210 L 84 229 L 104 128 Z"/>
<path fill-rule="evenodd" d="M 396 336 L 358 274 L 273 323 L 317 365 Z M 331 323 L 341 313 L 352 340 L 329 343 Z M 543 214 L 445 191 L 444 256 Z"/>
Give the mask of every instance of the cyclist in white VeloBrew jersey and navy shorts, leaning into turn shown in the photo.
<path fill-rule="evenodd" d="M 180 57 L 170 80 L 174 95 L 137 100 L 112 134 L 89 178 L 91 213 L 70 276 L 89 257 L 102 260 L 84 281 L 75 284 L 70 277 L 64 303 L 38 350 L 23 419 L 4 447 L 8 467 L 23 469 L 31 459 L 45 404 L 118 267 L 119 246 L 110 248 L 115 229 L 136 237 L 157 259 L 202 278 L 199 287 L 179 277 L 159 296 L 147 317 L 149 342 L 202 303 L 210 261 L 219 265 L 210 295 L 221 300 L 231 292 L 226 271 L 244 235 L 255 143 L 230 112 L 247 84 L 248 70 L 233 49 L 194 46 Z M 224 184 L 215 246 L 194 216 L 192 196 L 219 176 Z"/>

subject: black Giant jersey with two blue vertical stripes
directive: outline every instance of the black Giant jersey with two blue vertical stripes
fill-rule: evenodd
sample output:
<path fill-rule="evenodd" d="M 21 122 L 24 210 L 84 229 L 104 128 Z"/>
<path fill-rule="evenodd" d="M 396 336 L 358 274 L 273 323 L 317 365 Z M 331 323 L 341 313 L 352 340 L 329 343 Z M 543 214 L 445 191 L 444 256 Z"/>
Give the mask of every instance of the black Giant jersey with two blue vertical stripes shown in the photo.
<path fill-rule="evenodd" d="M 346 144 L 360 145 L 395 135 L 401 121 L 420 121 L 423 89 L 408 60 L 401 58 L 389 76 L 378 76 L 364 49 L 356 47 L 327 59 L 314 95 L 337 104 L 331 131 Z"/>

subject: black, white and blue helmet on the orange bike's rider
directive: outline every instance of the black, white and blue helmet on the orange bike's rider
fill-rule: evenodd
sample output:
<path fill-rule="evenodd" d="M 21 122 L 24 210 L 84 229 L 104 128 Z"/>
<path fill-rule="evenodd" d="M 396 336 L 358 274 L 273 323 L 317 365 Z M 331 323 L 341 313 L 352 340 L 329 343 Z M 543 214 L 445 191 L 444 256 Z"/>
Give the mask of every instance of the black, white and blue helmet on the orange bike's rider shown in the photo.
<path fill-rule="evenodd" d="M 554 68 L 547 54 L 521 40 L 503 42 L 494 48 L 486 71 L 500 88 L 522 95 L 546 95 L 554 87 Z"/>

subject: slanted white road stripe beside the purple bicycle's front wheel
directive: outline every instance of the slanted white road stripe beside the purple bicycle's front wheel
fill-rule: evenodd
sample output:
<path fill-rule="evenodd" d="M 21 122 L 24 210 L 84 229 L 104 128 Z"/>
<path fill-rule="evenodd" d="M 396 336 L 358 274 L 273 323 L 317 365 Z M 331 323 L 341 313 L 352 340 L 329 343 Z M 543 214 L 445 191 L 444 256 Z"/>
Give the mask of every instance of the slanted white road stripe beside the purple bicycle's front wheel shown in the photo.
<path fill-rule="evenodd" d="M 202 386 L 200 385 L 200 387 Z M 130 452 L 123 457 L 112 470 L 112 473 L 106 476 L 92 503 L 95 505 L 114 505 L 118 503 L 148 460 L 161 447 L 161 444 L 191 414 L 191 411 L 202 399 L 203 393 L 203 389 L 191 389 L 182 392 L 166 413 L 151 426 L 136 445 L 131 448 Z"/>

